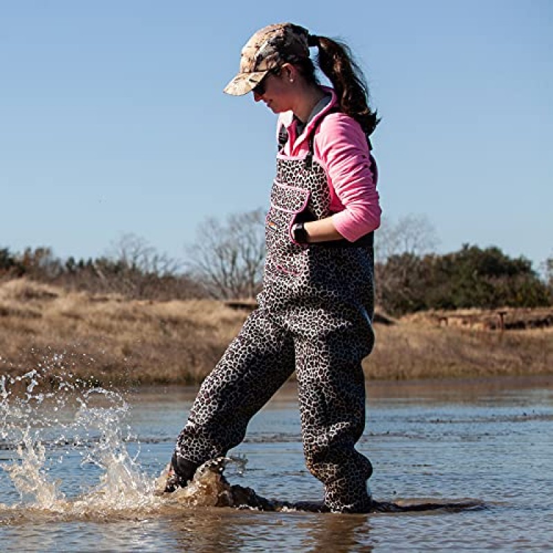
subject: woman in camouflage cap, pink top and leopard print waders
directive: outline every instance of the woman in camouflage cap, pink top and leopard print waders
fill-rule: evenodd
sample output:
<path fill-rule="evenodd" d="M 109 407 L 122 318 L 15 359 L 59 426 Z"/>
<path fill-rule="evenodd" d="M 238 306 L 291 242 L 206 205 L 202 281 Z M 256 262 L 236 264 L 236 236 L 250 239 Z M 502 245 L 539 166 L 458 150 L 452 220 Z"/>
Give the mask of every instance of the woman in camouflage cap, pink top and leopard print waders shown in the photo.
<path fill-rule="evenodd" d="M 333 88 L 319 84 L 309 47 Z M 225 88 L 279 113 L 259 308 L 205 379 L 178 437 L 167 491 L 239 444 L 297 371 L 306 465 L 332 512 L 367 512 L 371 462 L 361 362 L 374 343 L 373 231 L 380 208 L 368 135 L 377 118 L 344 45 L 293 24 L 256 32 Z"/>

